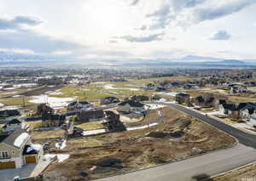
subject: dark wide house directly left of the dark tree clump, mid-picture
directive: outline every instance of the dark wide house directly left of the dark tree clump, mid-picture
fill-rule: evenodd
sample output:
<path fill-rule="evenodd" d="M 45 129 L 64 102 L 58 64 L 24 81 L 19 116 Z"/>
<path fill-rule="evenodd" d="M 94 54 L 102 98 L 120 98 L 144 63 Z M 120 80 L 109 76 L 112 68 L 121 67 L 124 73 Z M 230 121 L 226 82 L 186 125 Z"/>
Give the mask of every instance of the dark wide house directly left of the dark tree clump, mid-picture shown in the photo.
<path fill-rule="evenodd" d="M 77 113 L 78 122 L 104 121 L 106 115 L 104 110 L 80 110 Z"/>

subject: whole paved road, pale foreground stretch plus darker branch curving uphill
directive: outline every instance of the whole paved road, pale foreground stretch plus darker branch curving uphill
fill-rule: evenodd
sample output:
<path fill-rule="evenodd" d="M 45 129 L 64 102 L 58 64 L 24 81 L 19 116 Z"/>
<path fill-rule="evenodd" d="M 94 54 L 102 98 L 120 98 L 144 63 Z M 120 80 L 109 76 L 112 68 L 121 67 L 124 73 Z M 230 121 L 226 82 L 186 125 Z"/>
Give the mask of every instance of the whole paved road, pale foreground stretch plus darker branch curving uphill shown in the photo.
<path fill-rule="evenodd" d="M 162 104 L 163 105 L 163 104 Z M 230 127 L 224 122 L 204 116 L 195 110 L 190 110 L 181 105 L 164 104 L 182 111 L 189 116 L 194 116 L 213 127 L 234 136 L 240 144 L 235 147 L 214 151 L 203 156 L 196 156 L 183 161 L 166 163 L 157 167 L 150 167 L 143 170 L 119 174 L 108 178 L 99 178 L 98 181 L 184 181 L 193 180 L 192 177 L 198 174 L 216 175 L 242 167 L 256 161 L 256 135 L 244 133 L 235 127 Z"/>

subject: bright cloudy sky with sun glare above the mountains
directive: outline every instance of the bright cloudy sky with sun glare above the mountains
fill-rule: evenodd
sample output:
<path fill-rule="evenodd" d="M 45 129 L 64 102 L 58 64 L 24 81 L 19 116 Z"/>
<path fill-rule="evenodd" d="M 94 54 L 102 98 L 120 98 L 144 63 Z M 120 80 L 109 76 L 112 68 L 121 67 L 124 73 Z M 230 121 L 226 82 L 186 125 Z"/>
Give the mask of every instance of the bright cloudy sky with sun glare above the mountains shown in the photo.
<path fill-rule="evenodd" d="M 0 52 L 256 59 L 256 0 L 0 0 Z"/>

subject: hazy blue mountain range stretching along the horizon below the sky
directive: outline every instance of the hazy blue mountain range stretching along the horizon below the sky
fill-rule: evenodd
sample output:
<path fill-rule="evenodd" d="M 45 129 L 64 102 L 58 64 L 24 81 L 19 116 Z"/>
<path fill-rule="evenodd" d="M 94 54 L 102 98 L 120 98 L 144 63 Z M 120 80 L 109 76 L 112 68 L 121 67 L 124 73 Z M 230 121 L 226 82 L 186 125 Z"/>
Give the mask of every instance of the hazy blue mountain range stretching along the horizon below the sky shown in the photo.
<path fill-rule="evenodd" d="M 240 59 L 221 59 L 216 57 L 188 55 L 181 59 L 83 59 L 76 60 L 74 57 L 67 55 L 44 55 L 44 54 L 19 54 L 8 53 L 0 51 L 0 65 L 27 65 L 32 63 L 40 64 L 57 64 L 58 62 L 65 62 L 70 64 L 84 64 L 85 62 L 90 65 L 150 65 L 150 66 L 172 66 L 172 65 L 192 65 L 192 66 L 247 66 L 256 65 L 256 61 L 240 60 Z"/>

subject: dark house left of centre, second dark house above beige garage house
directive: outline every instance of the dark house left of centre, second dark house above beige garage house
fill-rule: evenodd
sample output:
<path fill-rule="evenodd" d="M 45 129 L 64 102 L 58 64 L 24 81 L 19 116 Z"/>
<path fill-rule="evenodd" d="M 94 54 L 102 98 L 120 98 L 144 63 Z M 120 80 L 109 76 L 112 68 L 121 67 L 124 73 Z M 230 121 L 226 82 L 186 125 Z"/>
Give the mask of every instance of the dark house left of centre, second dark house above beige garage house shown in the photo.
<path fill-rule="evenodd" d="M 56 115 L 51 112 L 42 114 L 42 127 L 60 127 L 66 120 L 64 115 Z"/>

